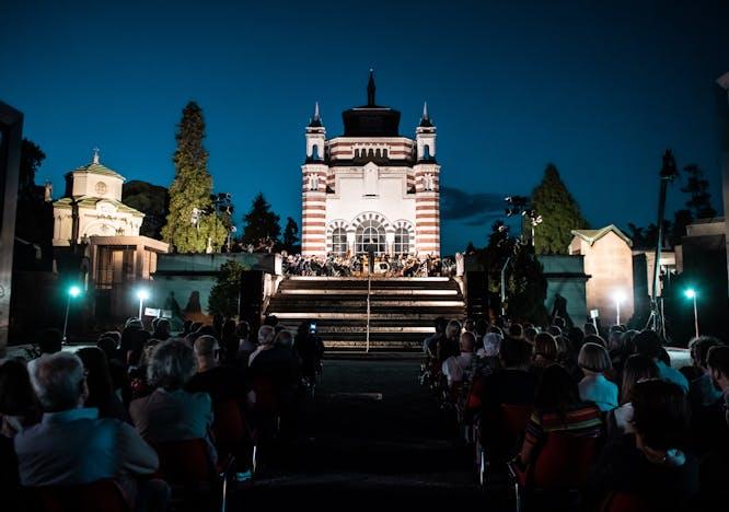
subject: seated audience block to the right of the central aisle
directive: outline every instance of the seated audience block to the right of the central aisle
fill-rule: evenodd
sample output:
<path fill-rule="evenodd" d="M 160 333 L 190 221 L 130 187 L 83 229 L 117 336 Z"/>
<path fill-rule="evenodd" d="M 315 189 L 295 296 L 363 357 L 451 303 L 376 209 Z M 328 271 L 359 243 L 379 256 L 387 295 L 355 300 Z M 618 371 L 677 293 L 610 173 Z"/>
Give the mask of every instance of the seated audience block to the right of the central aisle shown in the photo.
<path fill-rule="evenodd" d="M 652 330 L 601 336 L 559 317 L 543 328 L 438 318 L 435 328 L 421 383 L 456 411 L 482 481 L 507 478 L 518 503 L 565 488 L 581 510 L 729 502 L 729 346 L 719 339 L 692 339 L 691 364 L 675 369 Z"/>

